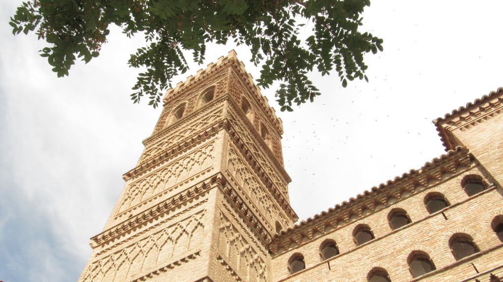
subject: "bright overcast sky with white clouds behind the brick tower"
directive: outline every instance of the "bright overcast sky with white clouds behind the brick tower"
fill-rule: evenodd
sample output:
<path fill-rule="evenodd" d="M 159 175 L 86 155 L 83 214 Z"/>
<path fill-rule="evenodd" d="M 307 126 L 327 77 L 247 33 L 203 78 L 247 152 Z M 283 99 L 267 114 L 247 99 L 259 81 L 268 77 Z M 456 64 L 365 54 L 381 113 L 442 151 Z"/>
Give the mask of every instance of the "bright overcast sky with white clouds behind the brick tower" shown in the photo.
<path fill-rule="evenodd" d="M 0 2 L 0 280 L 76 281 L 160 113 L 129 100 L 142 46 L 113 30 L 100 57 L 56 78 L 37 51 L 12 36 L 18 1 Z M 432 120 L 503 86 L 501 1 L 372 2 L 364 30 L 384 39 L 366 57 L 366 82 L 312 80 L 314 103 L 281 113 L 291 205 L 306 219 L 444 154 Z M 203 66 L 235 49 L 210 46 Z"/>

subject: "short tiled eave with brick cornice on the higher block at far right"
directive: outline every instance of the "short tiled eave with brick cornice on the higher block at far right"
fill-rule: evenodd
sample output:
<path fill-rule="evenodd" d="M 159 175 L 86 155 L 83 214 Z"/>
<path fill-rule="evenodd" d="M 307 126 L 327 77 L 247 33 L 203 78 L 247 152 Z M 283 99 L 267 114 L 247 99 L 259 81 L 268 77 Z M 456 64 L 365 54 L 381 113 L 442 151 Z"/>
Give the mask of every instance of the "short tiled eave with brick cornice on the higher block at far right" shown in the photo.
<path fill-rule="evenodd" d="M 434 119 L 433 123 L 437 127 L 445 150 L 448 151 L 457 146 L 452 131 L 456 129 L 464 131 L 501 113 L 503 113 L 503 87 L 476 99 L 473 103 L 454 109 L 444 117 Z"/>

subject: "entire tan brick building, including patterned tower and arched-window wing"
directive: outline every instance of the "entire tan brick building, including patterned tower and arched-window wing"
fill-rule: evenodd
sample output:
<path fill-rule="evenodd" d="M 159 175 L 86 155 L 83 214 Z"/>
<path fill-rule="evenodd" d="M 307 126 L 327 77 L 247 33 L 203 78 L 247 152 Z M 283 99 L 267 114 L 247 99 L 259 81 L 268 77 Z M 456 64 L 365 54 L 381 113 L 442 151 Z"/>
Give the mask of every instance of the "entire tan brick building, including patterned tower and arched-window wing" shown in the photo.
<path fill-rule="evenodd" d="M 503 278 L 503 88 L 434 120 L 445 155 L 297 224 L 281 119 L 234 51 L 163 105 L 79 282 Z"/>

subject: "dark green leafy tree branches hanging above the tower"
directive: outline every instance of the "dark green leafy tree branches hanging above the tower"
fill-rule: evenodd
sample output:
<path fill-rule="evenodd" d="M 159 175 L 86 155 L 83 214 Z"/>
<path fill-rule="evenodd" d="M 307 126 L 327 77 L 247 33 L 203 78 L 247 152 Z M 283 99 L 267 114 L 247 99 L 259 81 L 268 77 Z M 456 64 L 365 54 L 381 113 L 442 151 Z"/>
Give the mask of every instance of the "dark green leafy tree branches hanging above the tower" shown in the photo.
<path fill-rule="evenodd" d="M 202 63 L 207 42 L 246 44 L 255 65 L 262 64 L 258 84 L 276 92 L 281 110 L 313 101 L 319 90 L 309 80 L 313 69 L 335 71 L 348 80 L 368 81 L 365 53 L 382 51 L 382 39 L 360 33 L 370 0 L 33 0 L 20 6 L 10 25 L 13 34 L 35 32 L 48 47 L 40 50 L 58 77 L 68 75 L 77 58 L 90 62 L 107 42 L 110 25 L 128 37 L 143 34 L 146 45 L 131 54 L 139 73 L 131 99 L 147 96 L 156 107 L 161 90 L 188 69 L 183 50 Z M 312 35 L 301 39 L 308 24 Z"/>

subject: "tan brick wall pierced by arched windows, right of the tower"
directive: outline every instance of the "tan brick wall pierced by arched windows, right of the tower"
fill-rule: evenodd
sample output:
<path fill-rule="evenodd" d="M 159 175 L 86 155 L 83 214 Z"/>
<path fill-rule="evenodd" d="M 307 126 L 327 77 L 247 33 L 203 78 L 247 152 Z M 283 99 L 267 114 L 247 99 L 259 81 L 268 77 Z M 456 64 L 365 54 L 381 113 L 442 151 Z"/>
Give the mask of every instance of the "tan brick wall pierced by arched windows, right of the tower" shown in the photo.
<path fill-rule="evenodd" d="M 482 175 L 482 172 L 473 164 L 473 167 L 458 171 L 436 186 L 324 235 L 318 234 L 312 240 L 294 243 L 288 250 L 280 250 L 272 258 L 274 280 L 366 282 L 367 274 L 378 267 L 385 269 L 392 281 L 462 281 L 477 275 L 477 271 L 483 272 L 501 265 L 501 259 L 494 258 L 503 258 L 503 244 L 491 229 L 492 219 L 496 215 L 503 215 L 501 195 L 498 188 L 489 188 L 468 197 L 460 185 L 467 175 Z M 429 214 L 424 198 L 431 192 L 445 195 L 450 206 Z M 412 222 L 392 230 L 388 214 L 396 208 L 405 210 Z M 353 231 L 360 224 L 370 226 L 375 239 L 357 246 Z M 456 261 L 449 248 L 449 239 L 458 233 L 473 237 L 480 252 Z M 337 242 L 340 254 L 323 260 L 320 245 L 327 238 Z M 407 264 L 407 258 L 413 251 L 428 253 L 437 270 L 414 279 Z M 304 256 L 306 269 L 291 274 L 288 260 L 294 254 Z"/>

